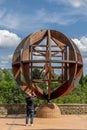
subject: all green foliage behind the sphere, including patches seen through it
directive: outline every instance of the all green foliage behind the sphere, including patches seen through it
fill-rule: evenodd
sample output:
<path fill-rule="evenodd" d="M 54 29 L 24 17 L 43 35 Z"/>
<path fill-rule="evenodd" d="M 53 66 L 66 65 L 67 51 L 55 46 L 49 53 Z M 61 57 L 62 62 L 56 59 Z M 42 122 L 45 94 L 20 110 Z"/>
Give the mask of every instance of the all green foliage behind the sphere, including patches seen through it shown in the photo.
<path fill-rule="evenodd" d="M 39 70 L 33 70 L 33 78 L 37 79 Z M 42 74 L 42 79 L 44 79 L 44 74 Z M 46 87 L 43 83 L 38 83 L 38 86 L 46 91 Z M 54 90 L 58 87 L 58 83 L 52 84 L 51 88 Z M 43 103 L 43 100 L 36 100 L 36 104 Z M 87 75 L 82 76 L 77 87 L 68 95 L 61 97 L 59 99 L 52 100 L 55 103 L 87 103 Z M 0 103 L 25 103 L 25 93 L 20 89 L 16 83 L 11 69 L 0 69 Z"/>

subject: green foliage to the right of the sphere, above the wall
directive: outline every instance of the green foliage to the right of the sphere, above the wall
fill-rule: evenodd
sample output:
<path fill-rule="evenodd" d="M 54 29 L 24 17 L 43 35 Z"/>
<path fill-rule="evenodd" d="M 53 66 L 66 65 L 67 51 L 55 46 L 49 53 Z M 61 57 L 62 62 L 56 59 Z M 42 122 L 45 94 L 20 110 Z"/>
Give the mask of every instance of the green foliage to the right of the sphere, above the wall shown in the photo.
<path fill-rule="evenodd" d="M 68 95 L 59 99 L 53 100 L 53 102 L 64 104 L 64 103 L 87 103 L 87 75 L 81 78 L 81 81 L 76 88 L 73 89 Z"/>

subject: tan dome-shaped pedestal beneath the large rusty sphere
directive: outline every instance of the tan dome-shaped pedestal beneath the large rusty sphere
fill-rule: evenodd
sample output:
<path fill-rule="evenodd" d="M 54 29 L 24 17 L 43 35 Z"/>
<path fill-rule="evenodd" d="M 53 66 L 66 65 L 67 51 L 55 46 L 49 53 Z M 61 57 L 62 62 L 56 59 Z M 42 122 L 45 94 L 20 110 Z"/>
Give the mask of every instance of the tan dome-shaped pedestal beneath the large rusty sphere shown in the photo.
<path fill-rule="evenodd" d="M 55 103 L 44 103 L 39 106 L 36 112 L 36 117 L 41 118 L 58 118 L 60 115 L 60 109 Z"/>

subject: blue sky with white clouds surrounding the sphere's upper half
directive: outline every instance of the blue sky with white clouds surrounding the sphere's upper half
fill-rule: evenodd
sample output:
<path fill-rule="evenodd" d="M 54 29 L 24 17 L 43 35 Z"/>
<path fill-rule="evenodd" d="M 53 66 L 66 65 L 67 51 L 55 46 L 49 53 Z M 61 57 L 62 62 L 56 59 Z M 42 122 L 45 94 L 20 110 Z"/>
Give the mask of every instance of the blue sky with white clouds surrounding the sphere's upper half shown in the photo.
<path fill-rule="evenodd" d="M 0 0 L 0 68 L 11 68 L 17 45 L 43 29 L 60 31 L 76 43 L 86 75 L 87 0 Z"/>

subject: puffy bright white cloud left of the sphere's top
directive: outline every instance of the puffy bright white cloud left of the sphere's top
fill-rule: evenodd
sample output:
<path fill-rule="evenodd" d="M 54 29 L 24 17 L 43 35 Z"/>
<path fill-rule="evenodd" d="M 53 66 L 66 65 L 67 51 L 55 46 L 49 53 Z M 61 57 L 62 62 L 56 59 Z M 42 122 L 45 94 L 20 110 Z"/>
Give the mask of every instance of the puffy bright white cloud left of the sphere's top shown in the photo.
<path fill-rule="evenodd" d="M 21 41 L 15 33 L 7 30 L 0 30 L 0 48 L 16 47 Z"/>

